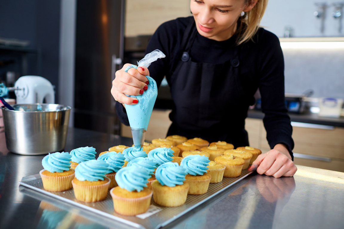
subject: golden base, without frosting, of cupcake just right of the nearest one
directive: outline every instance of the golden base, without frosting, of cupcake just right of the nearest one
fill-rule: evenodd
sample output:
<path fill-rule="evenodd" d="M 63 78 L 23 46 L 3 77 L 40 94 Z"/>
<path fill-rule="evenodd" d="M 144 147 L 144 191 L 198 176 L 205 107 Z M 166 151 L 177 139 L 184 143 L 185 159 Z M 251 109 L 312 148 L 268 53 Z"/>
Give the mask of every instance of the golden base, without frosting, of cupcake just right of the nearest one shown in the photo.
<path fill-rule="evenodd" d="M 189 191 L 189 183 L 184 183 L 183 189 L 174 189 L 173 187 L 165 188 L 152 186 L 154 202 L 165 207 L 176 207 L 183 205 L 186 201 L 187 193 Z"/>

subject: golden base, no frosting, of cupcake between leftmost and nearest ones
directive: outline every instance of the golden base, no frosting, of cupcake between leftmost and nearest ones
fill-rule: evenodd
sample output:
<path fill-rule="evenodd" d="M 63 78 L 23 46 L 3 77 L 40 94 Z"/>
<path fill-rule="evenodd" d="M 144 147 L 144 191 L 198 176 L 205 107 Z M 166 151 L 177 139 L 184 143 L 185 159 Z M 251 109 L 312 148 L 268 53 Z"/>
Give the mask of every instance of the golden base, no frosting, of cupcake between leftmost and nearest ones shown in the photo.
<path fill-rule="evenodd" d="M 106 198 L 110 185 L 110 179 L 105 184 L 99 185 L 80 185 L 72 181 L 75 198 L 83 202 L 97 202 Z"/>

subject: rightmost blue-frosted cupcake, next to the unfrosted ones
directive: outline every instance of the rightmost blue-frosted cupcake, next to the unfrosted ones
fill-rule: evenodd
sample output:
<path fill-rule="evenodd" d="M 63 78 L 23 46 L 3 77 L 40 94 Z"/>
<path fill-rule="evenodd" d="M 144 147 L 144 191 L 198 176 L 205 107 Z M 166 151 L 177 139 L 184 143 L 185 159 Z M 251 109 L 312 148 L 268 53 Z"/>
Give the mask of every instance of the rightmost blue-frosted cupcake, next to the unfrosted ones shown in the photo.
<path fill-rule="evenodd" d="M 188 173 L 185 182 L 189 183 L 188 194 L 200 195 L 208 191 L 211 175 L 207 174 L 209 160 L 205 156 L 189 155 L 183 158 L 181 166 Z"/>

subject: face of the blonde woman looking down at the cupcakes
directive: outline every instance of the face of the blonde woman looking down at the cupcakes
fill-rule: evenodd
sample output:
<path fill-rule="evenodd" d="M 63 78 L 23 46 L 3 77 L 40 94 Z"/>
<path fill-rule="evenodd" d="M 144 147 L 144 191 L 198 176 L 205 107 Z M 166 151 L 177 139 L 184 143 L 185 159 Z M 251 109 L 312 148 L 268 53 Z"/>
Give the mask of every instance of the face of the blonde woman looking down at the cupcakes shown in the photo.
<path fill-rule="evenodd" d="M 245 5 L 245 0 L 191 0 L 190 3 L 198 33 L 216 41 L 230 38 L 241 12 L 252 7 Z"/>

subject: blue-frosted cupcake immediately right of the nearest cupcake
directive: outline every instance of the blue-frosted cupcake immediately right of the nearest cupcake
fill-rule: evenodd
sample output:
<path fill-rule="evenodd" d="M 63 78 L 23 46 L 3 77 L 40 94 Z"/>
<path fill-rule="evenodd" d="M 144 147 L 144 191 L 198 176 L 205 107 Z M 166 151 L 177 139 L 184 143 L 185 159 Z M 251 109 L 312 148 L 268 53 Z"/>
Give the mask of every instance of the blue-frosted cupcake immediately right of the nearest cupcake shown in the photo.
<path fill-rule="evenodd" d="M 157 180 L 152 183 L 154 202 L 165 207 L 183 205 L 186 201 L 189 183 L 184 183 L 187 172 L 173 162 L 160 165 L 155 172 Z"/>

